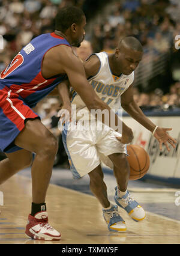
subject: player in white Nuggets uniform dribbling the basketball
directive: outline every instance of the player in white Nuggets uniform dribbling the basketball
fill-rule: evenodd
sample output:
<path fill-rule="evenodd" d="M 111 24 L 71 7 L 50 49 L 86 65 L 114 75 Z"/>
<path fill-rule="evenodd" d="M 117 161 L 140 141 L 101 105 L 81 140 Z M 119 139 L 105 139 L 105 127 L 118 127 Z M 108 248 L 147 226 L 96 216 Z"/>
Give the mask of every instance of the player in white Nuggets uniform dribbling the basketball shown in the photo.
<path fill-rule="evenodd" d="M 175 147 L 176 141 L 166 132 L 171 130 L 161 128 L 152 123 L 140 110 L 133 99 L 134 70 L 142 59 L 143 49 L 140 42 L 134 37 L 125 37 L 119 42 L 115 53 L 96 53 L 84 62 L 86 77 L 97 95 L 106 102 L 110 108 L 115 109 L 117 100 L 121 97 L 121 106 L 135 120 L 153 133 L 160 143 L 160 150 L 164 143 L 170 150 L 167 142 Z M 67 99 L 68 95 L 59 87 L 61 98 Z M 76 105 L 77 123 L 95 118 L 92 115 L 78 117 L 82 109 L 86 109 L 80 96 L 73 92 L 72 105 Z M 66 106 L 64 106 L 66 108 Z M 67 109 L 70 109 L 67 103 Z M 88 110 L 88 109 L 87 109 Z M 80 116 L 80 115 L 79 115 Z M 96 121 L 97 127 L 102 125 Z M 122 207 L 134 221 L 142 221 L 145 211 L 129 194 L 127 190 L 130 168 L 127 161 L 126 145 L 116 137 L 119 133 L 106 129 L 103 124 L 101 130 L 63 130 L 62 138 L 65 150 L 70 161 L 74 178 L 89 174 L 90 188 L 103 207 L 103 216 L 109 231 L 125 232 L 124 219 L 119 215 L 118 207 Z M 103 181 L 103 171 L 100 163 L 113 168 L 117 181 L 115 187 L 115 202 L 113 205 L 107 197 L 107 187 Z"/>

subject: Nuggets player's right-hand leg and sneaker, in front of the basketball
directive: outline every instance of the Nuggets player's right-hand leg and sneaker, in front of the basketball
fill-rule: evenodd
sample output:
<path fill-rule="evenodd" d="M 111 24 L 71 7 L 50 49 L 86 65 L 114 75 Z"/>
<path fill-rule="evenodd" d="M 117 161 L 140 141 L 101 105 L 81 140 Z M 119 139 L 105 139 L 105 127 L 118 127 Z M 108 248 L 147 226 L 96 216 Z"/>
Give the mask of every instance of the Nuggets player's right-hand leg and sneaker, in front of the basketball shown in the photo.
<path fill-rule="evenodd" d="M 145 211 L 135 201 L 127 190 L 130 167 L 124 153 L 115 153 L 109 156 L 113 162 L 113 171 L 118 187 L 115 187 L 115 202 L 122 207 L 134 221 L 142 221 Z"/>

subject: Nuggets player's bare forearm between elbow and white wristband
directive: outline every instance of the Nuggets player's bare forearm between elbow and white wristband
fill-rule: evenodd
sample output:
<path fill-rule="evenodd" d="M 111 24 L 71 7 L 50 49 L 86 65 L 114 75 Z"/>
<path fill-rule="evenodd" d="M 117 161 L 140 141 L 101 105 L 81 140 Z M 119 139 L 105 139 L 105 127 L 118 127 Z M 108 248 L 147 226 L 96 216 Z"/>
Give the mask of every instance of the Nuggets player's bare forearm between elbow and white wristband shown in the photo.
<path fill-rule="evenodd" d="M 133 117 L 138 123 L 142 124 L 146 129 L 150 132 L 153 132 L 155 129 L 155 124 L 149 120 L 148 117 L 143 114 L 142 110 L 136 104 L 136 102 L 132 101 L 128 105 L 122 105 L 122 108 L 131 116 Z"/>

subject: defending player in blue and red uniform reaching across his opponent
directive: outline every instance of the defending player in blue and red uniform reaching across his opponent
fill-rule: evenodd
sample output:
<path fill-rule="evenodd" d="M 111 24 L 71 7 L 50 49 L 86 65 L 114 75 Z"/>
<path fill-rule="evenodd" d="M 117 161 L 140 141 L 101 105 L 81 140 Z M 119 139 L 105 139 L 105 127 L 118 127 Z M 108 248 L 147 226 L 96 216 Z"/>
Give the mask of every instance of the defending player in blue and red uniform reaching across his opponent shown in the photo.
<path fill-rule="evenodd" d="M 56 16 L 55 32 L 30 41 L 0 75 L 0 150 L 7 156 L 0 162 L 0 184 L 32 165 L 32 206 L 25 231 L 32 239 L 61 238 L 48 224 L 45 203 L 58 143 L 32 108 L 68 76 L 89 109 L 110 112 L 89 86 L 82 62 L 71 49 L 83 41 L 85 25 L 82 10 L 62 8 Z M 122 140 L 132 138 L 131 129 L 124 126 Z"/>

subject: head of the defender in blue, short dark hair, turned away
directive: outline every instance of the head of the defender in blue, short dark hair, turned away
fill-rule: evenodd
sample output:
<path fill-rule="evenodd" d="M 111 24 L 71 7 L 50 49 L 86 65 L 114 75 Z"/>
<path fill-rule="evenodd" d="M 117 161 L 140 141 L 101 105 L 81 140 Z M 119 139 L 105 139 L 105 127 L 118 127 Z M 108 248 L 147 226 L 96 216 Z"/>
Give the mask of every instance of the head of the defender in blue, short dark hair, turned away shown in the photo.
<path fill-rule="evenodd" d="M 85 25 L 86 17 L 80 8 L 64 7 L 56 14 L 55 29 L 65 34 L 72 46 L 79 47 L 85 38 Z"/>

